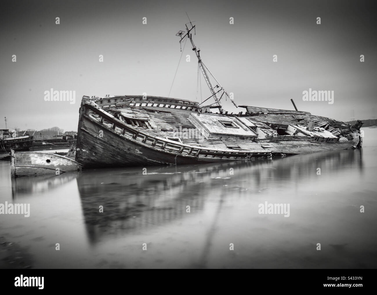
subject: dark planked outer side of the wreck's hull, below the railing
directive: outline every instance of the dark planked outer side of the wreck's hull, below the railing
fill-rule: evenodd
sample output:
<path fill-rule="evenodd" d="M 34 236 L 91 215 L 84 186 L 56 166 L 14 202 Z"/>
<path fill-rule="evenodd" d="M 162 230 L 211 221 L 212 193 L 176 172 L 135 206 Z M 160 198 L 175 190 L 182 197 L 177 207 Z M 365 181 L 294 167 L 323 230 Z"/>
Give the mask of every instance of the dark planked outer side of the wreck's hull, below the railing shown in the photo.
<path fill-rule="evenodd" d="M 99 137 L 100 131 L 103 131 L 103 137 Z M 78 140 L 78 148 L 76 151 L 76 160 L 80 161 L 85 168 L 95 167 L 126 167 L 126 166 L 155 166 L 155 165 L 171 165 L 171 164 L 198 164 L 208 162 L 219 162 L 222 160 L 234 159 L 231 154 L 224 154 L 222 159 L 218 153 L 218 157 L 205 157 L 203 154 L 196 156 L 200 149 L 191 147 L 185 148 L 185 154 L 179 153 L 179 148 L 175 144 L 167 141 L 156 140 L 150 138 L 144 144 L 133 139 L 126 138 L 117 134 L 111 128 L 106 128 L 98 122 L 90 118 L 83 118 L 80 128 L 80 139 Z M 142 140 L 141 140 L 142 141 Z M 166 147 L 162 147 L 166 143 Z M 175 147 L 174 147 L 175 145 Z M 182 146 L 183 147 L 183 146 Z M 204 153 L 204 151 L 200 151 Z M 215 151 L 212 150 L 214 153 Z M 242 155 L 246 158 L 247 153 Z M 256 151 L 255 156 L 270 156 L 270 152 L 260 148 Z M 240 157 L 240 156 L 239 156 Z"/>

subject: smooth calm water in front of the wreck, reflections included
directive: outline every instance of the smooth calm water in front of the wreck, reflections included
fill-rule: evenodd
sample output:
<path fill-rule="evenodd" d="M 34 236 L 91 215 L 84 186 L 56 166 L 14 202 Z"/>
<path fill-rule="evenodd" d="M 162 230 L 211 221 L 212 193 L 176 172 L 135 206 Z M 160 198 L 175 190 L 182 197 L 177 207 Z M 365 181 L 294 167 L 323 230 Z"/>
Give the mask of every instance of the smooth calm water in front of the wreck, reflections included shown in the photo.
<path fill-rule="evenodd" d="M 377 129 L 363 130 L 361 150 L 146 175 L 98 169 L 12 185 L 0 161 L 0 203 L 31 211 L 0 215 L 0 237 L 33 268 L 375 268 Z M 290 204 L 290 216 L 259 214 L 265 202 Z"/>

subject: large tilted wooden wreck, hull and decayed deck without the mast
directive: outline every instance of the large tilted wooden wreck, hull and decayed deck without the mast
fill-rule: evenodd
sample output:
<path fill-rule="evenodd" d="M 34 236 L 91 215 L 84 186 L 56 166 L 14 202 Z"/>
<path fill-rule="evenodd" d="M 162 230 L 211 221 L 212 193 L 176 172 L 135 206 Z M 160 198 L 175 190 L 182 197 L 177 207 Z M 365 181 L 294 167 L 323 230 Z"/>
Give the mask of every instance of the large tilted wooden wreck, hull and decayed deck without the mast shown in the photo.
<path fill-rule="evenodd" d="M 264 109 L 231 116 L 200 113 L 197 103 L 171 98 L 143 101 L 124 96 L 118 103 L 107 101 L 96 104 L 84 97 L 81 103 L 76 161 L 85 168 L 224 162 L 345 149 L 361 143 L 360 127 L 307 112 L 292 117 L 287 112 L 295 111 Z M 226 125 L 221 123 L 224 120 Z M 308 122 L 313 122 L 312 131 L 305 129 Z M 204 130 L 204 138 L 177 137 L 176 130 L 182 127 Z"/>

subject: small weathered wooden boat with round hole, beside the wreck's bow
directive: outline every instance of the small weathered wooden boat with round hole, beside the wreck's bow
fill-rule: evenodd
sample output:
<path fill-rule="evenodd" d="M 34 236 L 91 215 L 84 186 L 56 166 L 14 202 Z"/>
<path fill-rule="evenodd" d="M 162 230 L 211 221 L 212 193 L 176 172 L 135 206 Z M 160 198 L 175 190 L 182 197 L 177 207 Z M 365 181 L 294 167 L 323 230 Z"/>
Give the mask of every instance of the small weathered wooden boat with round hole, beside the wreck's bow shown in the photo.
<path fill-rule="evenodd" d="M 71 171 L 81 171 L 81 165 L 69 157 L 43 151 L 11 151 L 11 175 L 37 176 L 44 174 L 60 175 Z"/>

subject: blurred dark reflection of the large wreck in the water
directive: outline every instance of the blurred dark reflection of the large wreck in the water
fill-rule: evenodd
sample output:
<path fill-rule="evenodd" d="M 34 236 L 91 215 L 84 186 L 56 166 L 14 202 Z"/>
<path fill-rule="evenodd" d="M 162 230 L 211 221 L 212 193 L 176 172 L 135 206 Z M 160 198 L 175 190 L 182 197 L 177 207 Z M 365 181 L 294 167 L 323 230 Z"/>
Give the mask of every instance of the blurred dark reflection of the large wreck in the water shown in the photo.
<path fill-rule="evenodd" d="M 361 156 L 361 150 L 338 150 L 302 155 L 295 161 L 277 158 L 148 168 L 147 175 L 142 174 L 141 168 L 87 170 L 80 174 L 77 183 L 90 243 L 177 222 L 188 217 L 187 205 L 191 212 L 198 213 L 205 202 L 215 201 L 219 205 L 208 229 L 206 244 L 210 245 L 216 220 L 221 218 L 222 202 L 242 193 L 253 197 L 260 188 L 271 186 L 271 182 L 317 181 L 317 167 L 337 171 L 357 165 L 362 170 Z M 99 212 L 100 206 L 103 213 Z M 206 256 L 205 252 L 203 255 Z"/>

